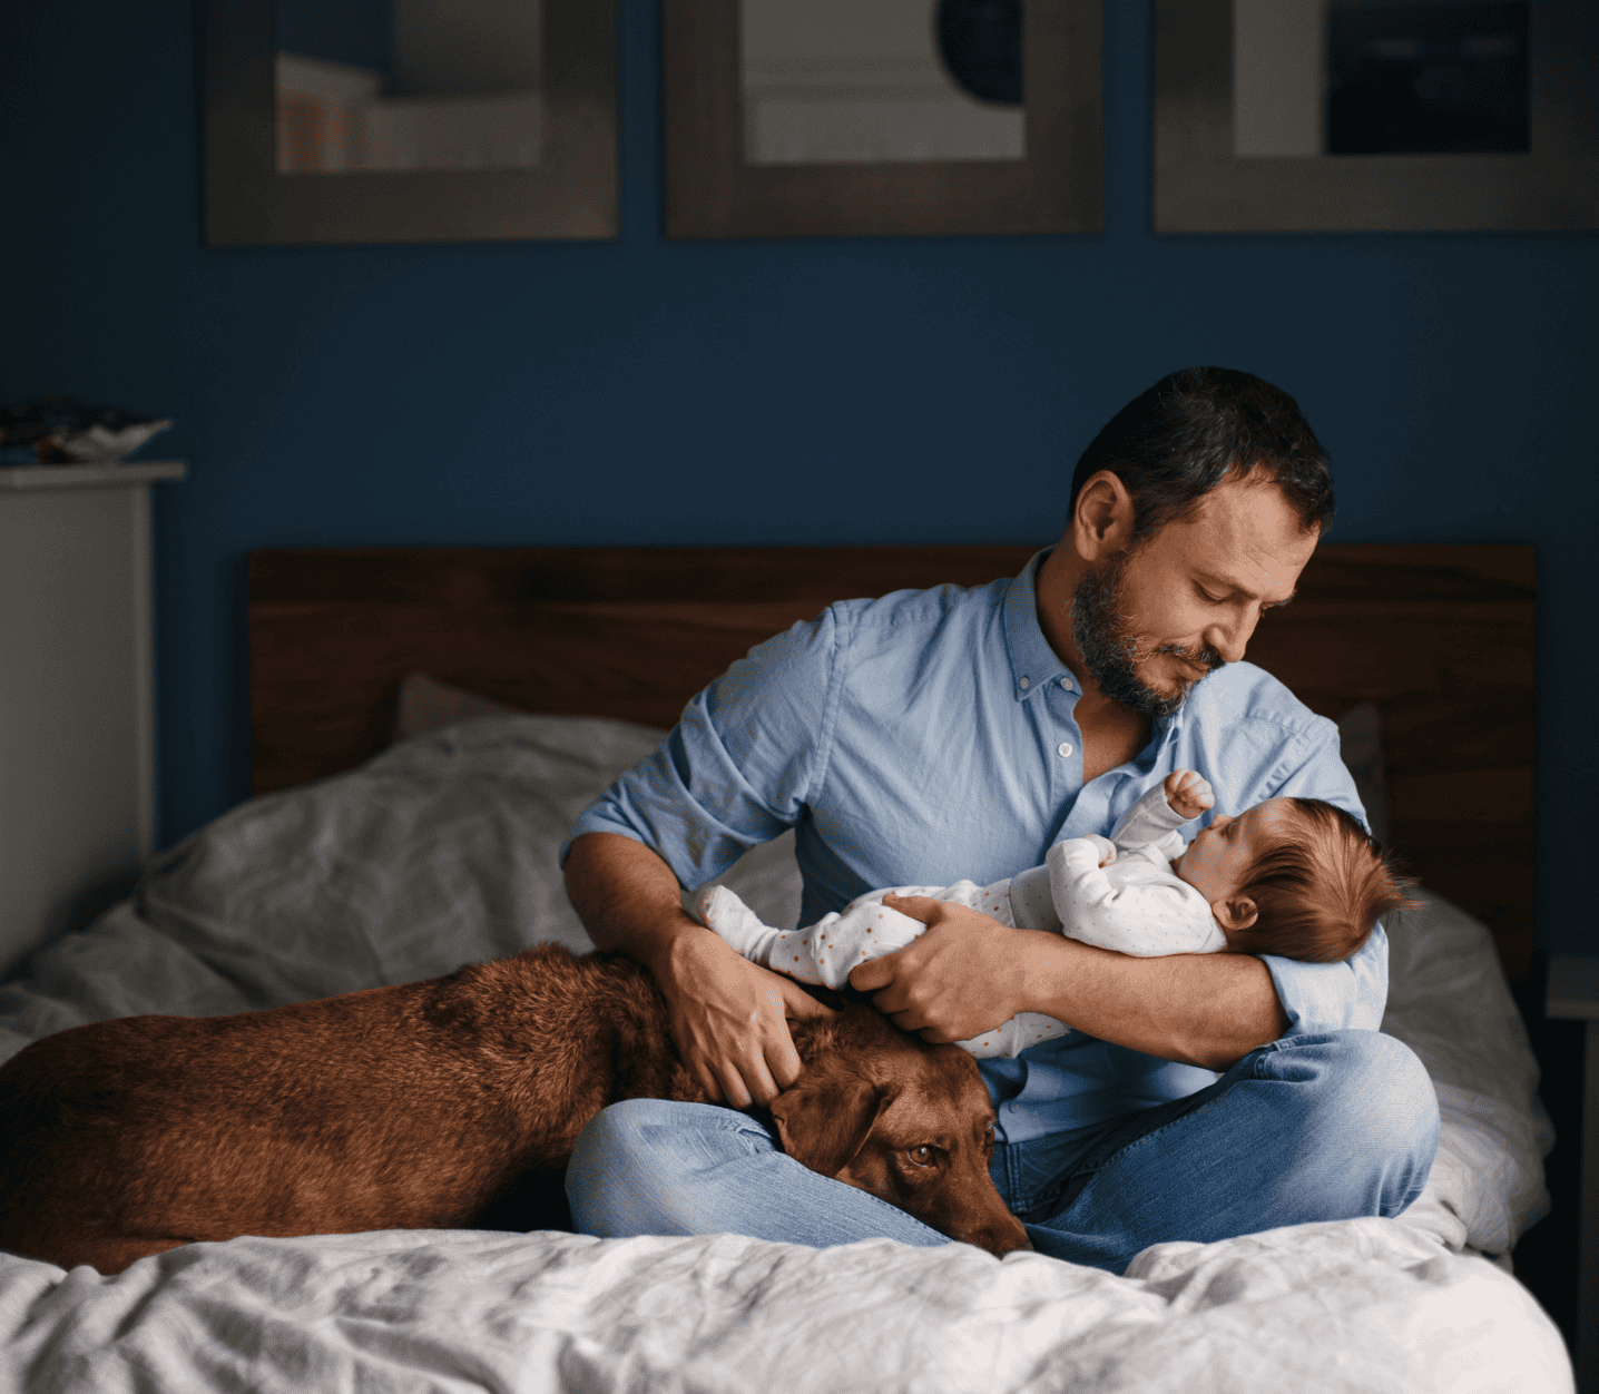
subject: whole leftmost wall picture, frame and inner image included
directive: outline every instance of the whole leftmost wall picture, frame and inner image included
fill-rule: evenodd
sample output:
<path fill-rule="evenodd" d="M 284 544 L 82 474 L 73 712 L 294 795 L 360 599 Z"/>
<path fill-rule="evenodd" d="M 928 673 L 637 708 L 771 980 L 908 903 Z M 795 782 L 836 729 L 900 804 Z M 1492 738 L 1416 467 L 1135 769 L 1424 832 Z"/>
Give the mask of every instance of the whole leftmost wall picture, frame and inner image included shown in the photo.
<path fill-rule="evenodd" d="M 206 241 L 616 237 L 616 0 L 206 0 Z"/>

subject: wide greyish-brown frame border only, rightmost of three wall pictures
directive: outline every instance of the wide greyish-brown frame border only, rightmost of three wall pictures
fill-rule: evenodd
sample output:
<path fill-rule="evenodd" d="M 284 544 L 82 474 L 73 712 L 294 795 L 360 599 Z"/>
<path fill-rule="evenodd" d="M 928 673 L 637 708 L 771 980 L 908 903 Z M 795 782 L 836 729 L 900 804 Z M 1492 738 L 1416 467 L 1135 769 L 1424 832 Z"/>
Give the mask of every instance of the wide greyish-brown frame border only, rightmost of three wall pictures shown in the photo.
<path fill-rule="evenodd" d="M 1154 230 L 1599 227 L 1599 6 L 1527 6 L 1524 153 L 1239 155 L 1236 0 L 1156 0 Z"/>

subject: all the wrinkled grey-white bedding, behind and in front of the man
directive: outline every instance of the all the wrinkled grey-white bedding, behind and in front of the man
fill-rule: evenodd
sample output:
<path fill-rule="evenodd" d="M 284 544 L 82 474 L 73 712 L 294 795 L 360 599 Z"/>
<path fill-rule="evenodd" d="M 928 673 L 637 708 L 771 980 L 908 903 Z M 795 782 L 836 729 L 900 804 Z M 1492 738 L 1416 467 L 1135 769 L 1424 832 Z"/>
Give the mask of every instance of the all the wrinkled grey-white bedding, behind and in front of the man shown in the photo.
<path fill-rule="evenodd" d="M 555 852 L 659 732 L 507 716 L 254 799 L 0 988 L 0 1058 L 82 1022 L 413 982 L 539 940 L 588 948 Z M 726 878 L 772 922 L 782 842 Z M 1390 926 L 1385 1030 L 1442 1143 L 1398 1220 L 1162 1244 L 1126 1277 L 1035 1253 L 739 1236 L 393 1231 L 235 1239 L 106 1279 L 0 1257 L 0 1389 L 1562 1391 L 1559 1333 L 1489 1257 L 1546 1209 L 1537 1071 L 1487 930 Z"/>

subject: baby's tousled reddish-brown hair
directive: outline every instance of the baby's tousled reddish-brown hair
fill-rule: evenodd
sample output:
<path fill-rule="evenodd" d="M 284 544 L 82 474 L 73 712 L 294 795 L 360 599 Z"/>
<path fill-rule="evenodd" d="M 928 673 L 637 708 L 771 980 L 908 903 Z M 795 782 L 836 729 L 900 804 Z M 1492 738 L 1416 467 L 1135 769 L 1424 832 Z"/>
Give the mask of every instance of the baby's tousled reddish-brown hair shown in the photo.
<path fill-rule="evenodd" d="M 1258 918 L 1233 930 L 1233 953 L 1270 953 L 1330 964 L 1356 953 L 1385 914 L 1418 902 L 1406 892 L 1393 858 L 1353 814 L 1322 799 L 1286 801 L 1294 830 L 1266 847 L 1234 892 L 1255 902 Z"/>

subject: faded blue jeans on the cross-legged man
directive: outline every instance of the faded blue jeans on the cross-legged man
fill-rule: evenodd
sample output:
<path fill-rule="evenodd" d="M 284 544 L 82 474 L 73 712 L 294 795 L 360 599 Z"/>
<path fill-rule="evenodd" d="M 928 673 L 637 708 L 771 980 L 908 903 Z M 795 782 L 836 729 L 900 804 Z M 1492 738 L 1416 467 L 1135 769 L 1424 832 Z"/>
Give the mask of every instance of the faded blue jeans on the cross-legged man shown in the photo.
<path fill-rule="evenodd" d="M 1422 1194 L 1436 1149 L 1422 1061 L 1378 1031 L 1329 1031 L 1263 1046 L 1188 1098 L 999 1145 L 991 1172 L 1035 1249 L 1121 1273 L 1169 1239 L 1398 1215 Z M 950 1242 L 806 1170 L 755 1119 L 702 1103 L 604 1109 L 577 1138 L 566 1193 L 574 1228 L 600 1237 Z"/>

